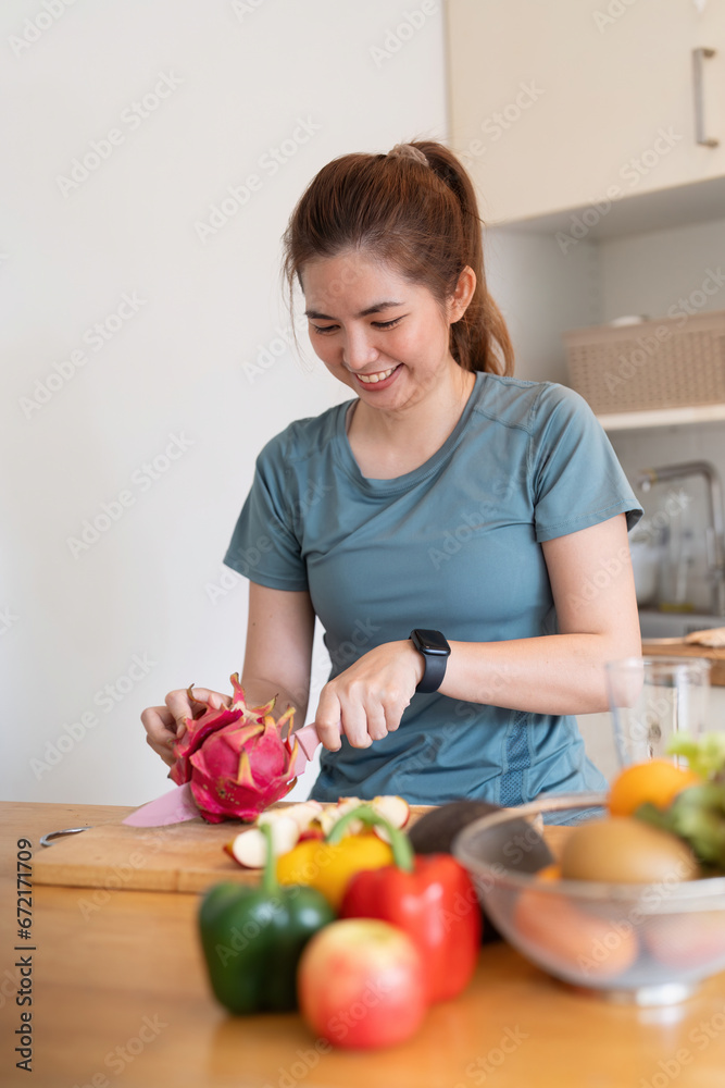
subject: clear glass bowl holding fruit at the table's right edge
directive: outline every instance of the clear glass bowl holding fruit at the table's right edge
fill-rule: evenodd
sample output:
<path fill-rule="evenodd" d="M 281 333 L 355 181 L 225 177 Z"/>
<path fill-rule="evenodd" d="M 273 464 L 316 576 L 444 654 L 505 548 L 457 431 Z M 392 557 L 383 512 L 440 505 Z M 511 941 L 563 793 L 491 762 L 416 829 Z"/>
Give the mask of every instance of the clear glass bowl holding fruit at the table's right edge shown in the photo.
<path fill-rule="evenodd" d="M 563 842 L 572 824 L 599 818 L 605 801 L 558 794 L 503 808 L 464 828 L 453 853 L 501 935 L 538 967 L 612 1001 L 682 1001 L 725 970 L 725 877 L 622 885 L 524 871 L 543 824 L 555 854 L 554 837 Z M 557 823 L 567 828 L 552 831 Z"/>

